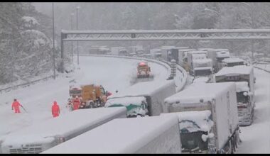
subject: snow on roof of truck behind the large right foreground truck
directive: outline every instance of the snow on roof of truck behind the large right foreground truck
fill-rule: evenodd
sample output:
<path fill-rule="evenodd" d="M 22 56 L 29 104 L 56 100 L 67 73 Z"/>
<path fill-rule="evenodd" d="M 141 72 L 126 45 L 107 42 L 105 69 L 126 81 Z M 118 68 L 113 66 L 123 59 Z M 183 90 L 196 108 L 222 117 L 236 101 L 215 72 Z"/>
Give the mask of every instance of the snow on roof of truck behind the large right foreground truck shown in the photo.
<path fill-rule="evenodd" d="M 215 74 L 216 77 L 219 76 L 232 76 L 234 74 L 250 74 L 253 70 L 252 66 L 237 65 L 234 67 L 223 67 L 219 72 Z"/>

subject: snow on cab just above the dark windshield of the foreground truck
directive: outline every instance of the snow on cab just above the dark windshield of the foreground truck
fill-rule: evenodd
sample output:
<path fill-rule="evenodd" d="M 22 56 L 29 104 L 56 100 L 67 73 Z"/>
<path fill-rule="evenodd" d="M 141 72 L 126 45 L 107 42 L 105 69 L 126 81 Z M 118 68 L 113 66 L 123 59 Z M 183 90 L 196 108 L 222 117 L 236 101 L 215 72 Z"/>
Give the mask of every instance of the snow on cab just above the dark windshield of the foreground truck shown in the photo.
<path fill-rule="evenodd" d="M 179 129 L 186 128 L 188 132 L 197 132 L 199 130 L 209 132 L 214 125 L 210 120 L 211 111 L 182 111 L 174 113 L 161 113 L 161 116 L 176 115 L 179 118 Z M 193 121 L 194 123 L 190 123 Z"/>

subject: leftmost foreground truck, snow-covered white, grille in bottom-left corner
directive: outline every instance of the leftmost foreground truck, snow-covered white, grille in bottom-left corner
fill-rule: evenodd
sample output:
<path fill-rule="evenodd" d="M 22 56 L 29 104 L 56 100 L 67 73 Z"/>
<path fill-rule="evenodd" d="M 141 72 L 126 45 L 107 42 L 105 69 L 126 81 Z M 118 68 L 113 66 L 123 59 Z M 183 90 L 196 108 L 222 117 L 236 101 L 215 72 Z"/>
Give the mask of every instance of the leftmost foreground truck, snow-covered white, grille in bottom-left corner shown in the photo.
<path fill-rule="evenodd" d="M 126 118 L 126 108 L 72 111 L 4 135 L 0 139 L 0 153 L 40 153 L 114 118 Z"/>

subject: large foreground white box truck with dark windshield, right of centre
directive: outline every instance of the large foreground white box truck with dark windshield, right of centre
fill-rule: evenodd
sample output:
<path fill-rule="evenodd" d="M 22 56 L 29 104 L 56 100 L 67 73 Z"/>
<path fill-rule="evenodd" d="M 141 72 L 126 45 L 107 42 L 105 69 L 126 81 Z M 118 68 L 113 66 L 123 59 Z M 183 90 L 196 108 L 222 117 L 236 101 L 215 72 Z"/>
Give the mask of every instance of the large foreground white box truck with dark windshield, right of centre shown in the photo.
<path fill-rule="evenodd" d="M 182 152 L 234 152 L 239 138 L 234 82 L 193 84 L 165 104 L 168 114 L 179 115 Z"/>

